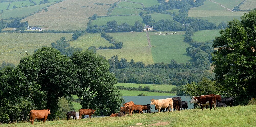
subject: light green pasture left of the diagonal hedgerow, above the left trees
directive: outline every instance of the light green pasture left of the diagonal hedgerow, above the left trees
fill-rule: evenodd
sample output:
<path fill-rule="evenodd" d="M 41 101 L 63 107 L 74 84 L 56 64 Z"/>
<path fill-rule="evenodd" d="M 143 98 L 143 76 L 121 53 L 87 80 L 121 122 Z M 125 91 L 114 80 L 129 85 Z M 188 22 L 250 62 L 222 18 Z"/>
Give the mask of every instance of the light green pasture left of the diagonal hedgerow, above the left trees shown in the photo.
<path fill-rule="evenodd" d="M 83 50 L 88 49 L 90 46 L 95 46 L 98 48 L 99 46 L 111 46 L 113 44 L 109 43 L 106 39 L 101 37 L 101 34 L 91 34 L 87 33 L 86 35 L 80 36 L 77 40 L 71 41 L 70 46 L 72 47 L 80 47 Z"/>

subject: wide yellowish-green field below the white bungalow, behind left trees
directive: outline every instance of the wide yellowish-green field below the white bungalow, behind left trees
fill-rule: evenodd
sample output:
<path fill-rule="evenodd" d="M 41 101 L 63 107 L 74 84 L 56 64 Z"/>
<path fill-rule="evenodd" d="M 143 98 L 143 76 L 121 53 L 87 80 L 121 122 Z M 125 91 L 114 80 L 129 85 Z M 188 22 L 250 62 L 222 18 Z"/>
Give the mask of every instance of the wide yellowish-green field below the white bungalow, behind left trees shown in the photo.
<path fill-rule="evenodd" d="M 61 37 L 71 39 L 69 33 L 0 33 L 0 63 L 19 64 L 21 58 L 33 55 L 42 46 L 51 47 Z"/>

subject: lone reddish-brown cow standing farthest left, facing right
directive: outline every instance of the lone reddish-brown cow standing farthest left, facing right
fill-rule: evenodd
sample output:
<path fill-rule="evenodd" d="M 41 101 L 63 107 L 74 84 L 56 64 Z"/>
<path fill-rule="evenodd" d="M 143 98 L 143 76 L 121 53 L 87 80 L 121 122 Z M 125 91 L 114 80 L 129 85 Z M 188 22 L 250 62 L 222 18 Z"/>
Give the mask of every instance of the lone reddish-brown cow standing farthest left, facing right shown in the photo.
<path fill-rule="evenodd" d="M 48 114 L 51 114 L 50 109 L 31 110 L 29 112 L 31 124 L 34 125 L 34 120 L 35 119 L 37 119 L 37 120 L 42 119 L 42 121 L 45 122 L 45 120 L 47 119 Z"/>

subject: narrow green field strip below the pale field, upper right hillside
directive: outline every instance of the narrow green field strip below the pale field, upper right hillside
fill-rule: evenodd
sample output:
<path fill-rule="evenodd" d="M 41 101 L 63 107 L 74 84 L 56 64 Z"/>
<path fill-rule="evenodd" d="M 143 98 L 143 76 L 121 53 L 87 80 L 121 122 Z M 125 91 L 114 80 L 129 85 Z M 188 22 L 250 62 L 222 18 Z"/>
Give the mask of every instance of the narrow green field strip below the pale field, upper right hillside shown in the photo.
<path fill-rule="evenodd" d="M 232 21 L 234 18 L 240 20 L 241 16 L 209 16 L 209 17 L 195 17 L 197 19 L 206 19 L 208 22 L 215 23 L 218 26 L 221 22 L 227 24 L 228 21 Z"/>

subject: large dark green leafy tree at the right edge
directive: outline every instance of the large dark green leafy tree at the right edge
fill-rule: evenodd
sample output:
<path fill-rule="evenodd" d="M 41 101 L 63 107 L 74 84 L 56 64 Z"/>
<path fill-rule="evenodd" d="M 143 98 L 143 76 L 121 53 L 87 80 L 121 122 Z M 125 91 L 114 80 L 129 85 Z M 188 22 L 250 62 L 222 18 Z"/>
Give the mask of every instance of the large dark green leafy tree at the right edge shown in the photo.
<path fill-rule="evenodd" d="M 214 41 L 213 65 L 216 82 L 223 85 L 223 93 L 237 97 L 244 103 L 256 96 L 256 9 L 244 14 L 241 21 L 233 19 L 229 28 L 220 31 Z"/>

